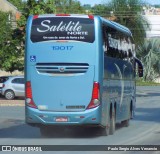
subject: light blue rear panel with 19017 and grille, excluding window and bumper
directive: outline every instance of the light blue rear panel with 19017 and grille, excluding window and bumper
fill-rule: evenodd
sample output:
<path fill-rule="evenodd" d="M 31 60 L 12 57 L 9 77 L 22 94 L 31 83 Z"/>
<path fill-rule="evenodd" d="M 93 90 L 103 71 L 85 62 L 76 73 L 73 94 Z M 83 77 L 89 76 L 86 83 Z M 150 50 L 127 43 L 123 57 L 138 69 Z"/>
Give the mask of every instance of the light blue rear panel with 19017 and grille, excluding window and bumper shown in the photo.
<path fill-rule="evenodd" d="M 71 51 L 53 51 L 53 46 L 58 45 L 61 46 L 57 43 L 39 45 L 29 50 L 27 59 L 33 99 L 37 106 L 44 106 L 46 110 L 84 110 L 90 103 L 95 80 L 95 45 L 86 51 L 85 43 L 82 47 L 72 43 Z M 62 45 L 70 46 L 70 43 Z M 30 60 L 32 56 L 35 62 Z"/>

